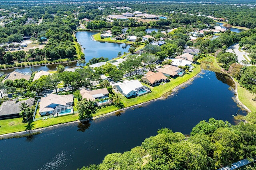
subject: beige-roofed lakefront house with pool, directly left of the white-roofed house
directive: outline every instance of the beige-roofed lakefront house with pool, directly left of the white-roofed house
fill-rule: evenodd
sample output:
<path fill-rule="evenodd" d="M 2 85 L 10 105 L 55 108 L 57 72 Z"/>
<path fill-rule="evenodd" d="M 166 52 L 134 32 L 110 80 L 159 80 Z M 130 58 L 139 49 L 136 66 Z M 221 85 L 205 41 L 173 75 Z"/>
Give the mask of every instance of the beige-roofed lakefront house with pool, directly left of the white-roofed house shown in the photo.
<path fill-rule="evenodd" d="M 109 92 L 107 88 L 91 90 L 91 91 L 82 89 L 80 90 L 80 94 L 83 99 L 85 98 L 87 100 L 95 101 L 96 99 L 108 98 Z"/>

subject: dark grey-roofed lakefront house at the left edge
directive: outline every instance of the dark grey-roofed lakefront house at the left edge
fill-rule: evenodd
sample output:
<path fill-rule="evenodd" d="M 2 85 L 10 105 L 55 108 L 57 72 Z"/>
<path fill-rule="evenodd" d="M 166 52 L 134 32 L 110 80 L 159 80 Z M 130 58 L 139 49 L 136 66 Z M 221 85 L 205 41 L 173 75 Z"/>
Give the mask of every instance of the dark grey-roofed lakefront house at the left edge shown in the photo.
<path fill-rule="evenodd" d="M 28 100 L 19 101 L 16 103 L 15 100 L 3 102 L 0 106 L 0 119 L 9 119 L 20 117 L 20 106 L 23 102 L 25 102 L 28 107 L 32 107 L 34 105 L 34 98 L 29 98 Z"/>

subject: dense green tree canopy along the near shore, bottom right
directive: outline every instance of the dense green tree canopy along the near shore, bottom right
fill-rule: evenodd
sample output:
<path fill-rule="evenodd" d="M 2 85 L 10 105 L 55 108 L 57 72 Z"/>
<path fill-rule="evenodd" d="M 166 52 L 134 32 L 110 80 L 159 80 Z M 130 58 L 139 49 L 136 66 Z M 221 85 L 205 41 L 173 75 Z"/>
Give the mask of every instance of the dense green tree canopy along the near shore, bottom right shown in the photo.
<path fill-rule="evenodd" d="M 162 128 L 158 135 L 145 139 L 141 146 L 128 152 L 108 154 L 101 164 L 81 170 L 206 170 L 230 165 L 243 158 L 256 156 L 255 112 L 249 113 L 248 123 L 231 125 L 210 118 L 200 121 L 190 137 Z"/>

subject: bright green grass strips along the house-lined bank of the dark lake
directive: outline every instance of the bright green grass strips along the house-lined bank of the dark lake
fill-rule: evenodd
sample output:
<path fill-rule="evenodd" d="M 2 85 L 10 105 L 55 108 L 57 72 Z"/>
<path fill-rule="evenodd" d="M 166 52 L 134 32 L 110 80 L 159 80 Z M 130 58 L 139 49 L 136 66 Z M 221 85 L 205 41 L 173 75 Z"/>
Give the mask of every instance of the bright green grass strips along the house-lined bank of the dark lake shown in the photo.
<path fill-rule="evenodd" d="M 122 99 L 124 101 L 124 106 L 130 107 L 130 106 L 142 104 L 144 102 L 148 102 L 150 100 L 160 98 L 163 95 L 169 94 L 169 92 L 172 89 L 188 81 L 190 78 L 193 78 L 201 71 L 199 64 L 194 64 L 194 67 L 195 68 L 193 72 L 189 72 L 188 74 L 185 74 L 183 77 L 177 77 L 175 79 L 172 79 L 171 82 L 168 82 L 164 85 L 159 85 L 152 88 L 152 92 L 150 94 L 146 94 L 144 96 L 138 96 L 136 98 L 131 98 L 131 99 L 127 99 L 122 96 Z M 93 117 L 104 115 L 106 113 L 110 113 L 117 110 L 118 108 L 115 106 L 105 107 L 100 109 L 95 115 L 93 115 Z M 72 115 L 56 117 L 56 118 L 47 119 L 47 120 L 39 120 L 32 123 L 32 129 L 34 130 L 34 129 L 44 128 L 44 127 L 50 127 L 57 124 L 77 121 L 78 118 L 79 118 L 78 114 L 76 113 Z M 22 121 L 22 118 L 0 120 L 0 135 L 26 131 L 27 124 L 21 123 L 21 121 Z"/>

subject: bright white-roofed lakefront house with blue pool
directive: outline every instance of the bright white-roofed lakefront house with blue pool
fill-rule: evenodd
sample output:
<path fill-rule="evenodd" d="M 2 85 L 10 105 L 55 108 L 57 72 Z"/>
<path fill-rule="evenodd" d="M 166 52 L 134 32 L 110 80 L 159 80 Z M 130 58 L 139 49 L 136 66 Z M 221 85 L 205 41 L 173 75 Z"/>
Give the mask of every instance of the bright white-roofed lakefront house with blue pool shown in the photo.
<path fill-rule="evenodd" d="M 150 92 L 150 88 L 143 86 L 139 80 L 125 80 L 124 82 L 114 83 L 112 86 L 126 98 Z"/>

